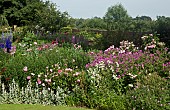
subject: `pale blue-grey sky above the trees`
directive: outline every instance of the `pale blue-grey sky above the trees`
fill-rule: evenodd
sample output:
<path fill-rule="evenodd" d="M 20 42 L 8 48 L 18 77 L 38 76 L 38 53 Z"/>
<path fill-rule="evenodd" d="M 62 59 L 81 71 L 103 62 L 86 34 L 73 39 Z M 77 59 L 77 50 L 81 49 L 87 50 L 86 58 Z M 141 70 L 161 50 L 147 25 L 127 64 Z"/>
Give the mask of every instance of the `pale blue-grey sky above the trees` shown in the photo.
<path fill-rule="evenodd" d="M 170 17 L 170 0 L 51 0 L 57 8 L 73 18 L 103 17 L 107 9 L 121 3 L 132 17 Z"/>

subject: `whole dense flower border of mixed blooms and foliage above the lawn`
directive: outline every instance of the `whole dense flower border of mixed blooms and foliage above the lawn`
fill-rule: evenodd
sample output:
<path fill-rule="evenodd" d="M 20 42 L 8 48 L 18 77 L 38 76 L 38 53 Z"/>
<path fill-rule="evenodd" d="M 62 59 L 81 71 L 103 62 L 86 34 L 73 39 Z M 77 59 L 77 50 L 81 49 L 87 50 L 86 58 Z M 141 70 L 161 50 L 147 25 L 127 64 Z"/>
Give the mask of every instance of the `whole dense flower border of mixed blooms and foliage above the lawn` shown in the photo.
<path fill-rule="evenodd" d="M 0 63 L 4 83 L 0 91 L 7 91 L 0 95 L 3 103 L 58 105 L 61 99 L 60 104 L 99 110 L 169 109 L 170 57 L 164 46 L 160 46 L 157 36 L 142 37 L 143 49 L 155 44 L 150 50 L 138 50 L 133 42 L 124 40 L 119 48 L 111 46 L 95 52 L 84 51 L 81 45 L 65 39 L 60 41 L 59 37 L 52 43 L 42 43 L 32 32 L 26 31 L 24 36 L 22 42 L 16 44 L 16 52 L 9 56 L 3 52 L 2 55 L 3 59 L 9 58 Z M 72 38 L 71 34 L 57 36 Z M 95 46 L 100 44 L 97 40 L 103 39 L 101 34 L 88 31 L 81 31 L 79 36 L 92 37 Z M 11 89 L 16 87 L 12 79 L 16 80 L 19 89 Z M 58 87 L 66 97 L 54 97 Z M 24 90 L 25 94 L 21 95 L 22 88 L 29 91 Z M 14 92 L 12 96 L 11 91 Z"/>

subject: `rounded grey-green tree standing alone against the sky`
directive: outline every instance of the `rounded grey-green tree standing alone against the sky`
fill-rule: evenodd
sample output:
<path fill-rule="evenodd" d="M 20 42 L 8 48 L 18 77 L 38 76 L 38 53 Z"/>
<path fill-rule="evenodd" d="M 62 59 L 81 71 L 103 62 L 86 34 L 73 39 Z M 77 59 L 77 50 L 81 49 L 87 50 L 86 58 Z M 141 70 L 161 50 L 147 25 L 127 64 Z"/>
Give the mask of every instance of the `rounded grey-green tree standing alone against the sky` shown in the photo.
<path fill-rule="evenodd" d="M 108 30 L 126 30 L 130 16 L 121 4 L 117 4 L 108 8 L 104 20 L 107 23 Z"/>

